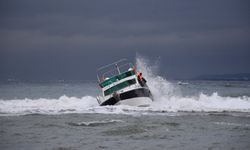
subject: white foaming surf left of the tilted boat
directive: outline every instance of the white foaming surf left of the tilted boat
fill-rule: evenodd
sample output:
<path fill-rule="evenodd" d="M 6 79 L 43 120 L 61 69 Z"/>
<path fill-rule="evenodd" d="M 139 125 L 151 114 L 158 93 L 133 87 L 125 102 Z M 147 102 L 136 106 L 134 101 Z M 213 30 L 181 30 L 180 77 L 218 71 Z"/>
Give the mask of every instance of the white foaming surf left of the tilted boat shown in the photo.
<path fill-rule="evenodd" d="M 84 112 L 97 106 L 91 96 L 82 98 L 61 96 L 58 99 L 16 99 L 0 100 L 0 112 L 5 114 L 57 114 L 67 112 Z"/>

